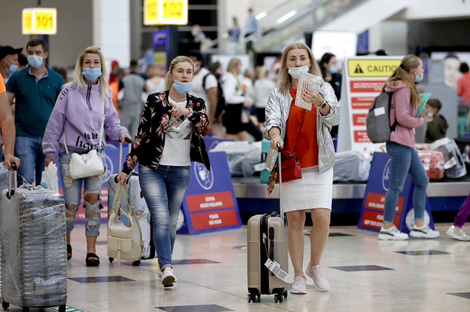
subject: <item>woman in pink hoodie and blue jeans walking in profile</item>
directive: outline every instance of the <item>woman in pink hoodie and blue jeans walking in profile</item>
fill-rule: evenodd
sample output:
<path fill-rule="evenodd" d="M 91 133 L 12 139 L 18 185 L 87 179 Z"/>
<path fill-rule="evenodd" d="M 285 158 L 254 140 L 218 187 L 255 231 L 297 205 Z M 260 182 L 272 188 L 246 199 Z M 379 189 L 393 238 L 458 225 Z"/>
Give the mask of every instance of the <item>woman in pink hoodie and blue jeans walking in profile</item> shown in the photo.
<path fill-rule="evenodd" d="M 415 208 L 415 224 L 410 236 L 436 238 L 438 231 L 424 224 L 424 208 L 426 205 L 426 188 L 429 178 L 424 171 L 421 159 L 415 149 L 415 133 L 413 128 L 421 128 L 424 118 L 416 117 L 418 104 L 421 102 L 415 84 L 423 80 L 423 62 L 415 55 L 406 55 L 397 66 L 392 76 L 388 78 L 383 92 L 393 92 L 390 103 L 390 125 L 396 122 L 395 130 L 387 142 L 387 152 L 390 154 L 390 186 L 385 195 L 384 226 L 380 229 L 380 240 L 406 240 L 408 234 L 400 232 L 393 225 L 398 195 L 403 189 L 409 173 L 415 181 L 413 207 Z"/>

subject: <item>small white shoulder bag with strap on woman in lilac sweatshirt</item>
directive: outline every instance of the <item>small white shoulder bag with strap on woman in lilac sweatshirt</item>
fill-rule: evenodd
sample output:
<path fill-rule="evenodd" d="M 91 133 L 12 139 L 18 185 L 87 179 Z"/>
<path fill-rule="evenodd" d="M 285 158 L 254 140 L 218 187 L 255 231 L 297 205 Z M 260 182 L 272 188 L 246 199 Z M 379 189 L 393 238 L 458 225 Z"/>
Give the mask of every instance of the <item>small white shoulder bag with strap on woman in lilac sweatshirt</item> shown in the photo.
<path fill-rule="evenodd" d="M 104 172 L 103 156 L 100 154 L 105 119 L 104 102 L 102 108 L 101 130 L 97 144 L 98 151 L 96 149 L 92 149 L 86 154 L 72 153 L 72 155 L 70 155 L 69 149 L 67 148 L 67 142 L 65 141 L 65 131 L 63 132 L 63 145 L 65 146 L 65 151 L 70 159 L 70 176 L 72 179 L 92 177 Z"/>

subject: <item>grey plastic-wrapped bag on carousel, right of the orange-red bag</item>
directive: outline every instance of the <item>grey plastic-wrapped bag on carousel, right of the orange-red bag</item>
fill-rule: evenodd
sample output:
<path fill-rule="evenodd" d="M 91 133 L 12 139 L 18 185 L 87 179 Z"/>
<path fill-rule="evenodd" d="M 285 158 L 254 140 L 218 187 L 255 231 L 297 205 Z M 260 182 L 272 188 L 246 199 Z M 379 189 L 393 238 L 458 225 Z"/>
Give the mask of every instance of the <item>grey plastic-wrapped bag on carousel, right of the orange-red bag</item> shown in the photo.
<path fill-rule="evenodd" d="M 444 155 L 444 161 L 446 162 L 444 169 L 447 178 L 458 179 L 467 174 L 462 154 L 454 140 L 442 138 L 432 142 L 429 148 L 437 150 Z"/>

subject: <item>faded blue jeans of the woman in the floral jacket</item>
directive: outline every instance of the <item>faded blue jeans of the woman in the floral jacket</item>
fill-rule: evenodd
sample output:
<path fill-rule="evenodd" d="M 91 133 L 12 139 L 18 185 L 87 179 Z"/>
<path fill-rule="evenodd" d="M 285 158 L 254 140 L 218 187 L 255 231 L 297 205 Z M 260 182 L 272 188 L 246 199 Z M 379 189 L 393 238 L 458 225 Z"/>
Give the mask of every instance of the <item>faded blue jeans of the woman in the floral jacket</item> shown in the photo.
<path fill-rule="evenodd" d="M 139 184 L 153 222 L 153 241 L 160 270 L 172 267 L 176 220 L 191 174 L 189 166 L 158 166 L 157 170 L 139 165 Z"/>

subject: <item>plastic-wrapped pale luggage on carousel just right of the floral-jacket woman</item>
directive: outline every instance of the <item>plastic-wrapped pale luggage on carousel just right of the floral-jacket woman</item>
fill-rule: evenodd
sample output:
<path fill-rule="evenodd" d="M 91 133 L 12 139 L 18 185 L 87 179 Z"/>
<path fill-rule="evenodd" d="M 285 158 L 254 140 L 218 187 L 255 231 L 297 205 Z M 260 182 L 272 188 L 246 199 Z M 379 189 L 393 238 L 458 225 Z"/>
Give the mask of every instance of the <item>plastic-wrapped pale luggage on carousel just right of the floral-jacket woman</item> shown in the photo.
<path fill-rule="evenodd" d="M 247 141 L 220 142 L 211 152 L 225 152 L 227 164 L 232 176 L 251 177 L 255 173 L 255 164 L 261 162 L 261 142 Z"/>

